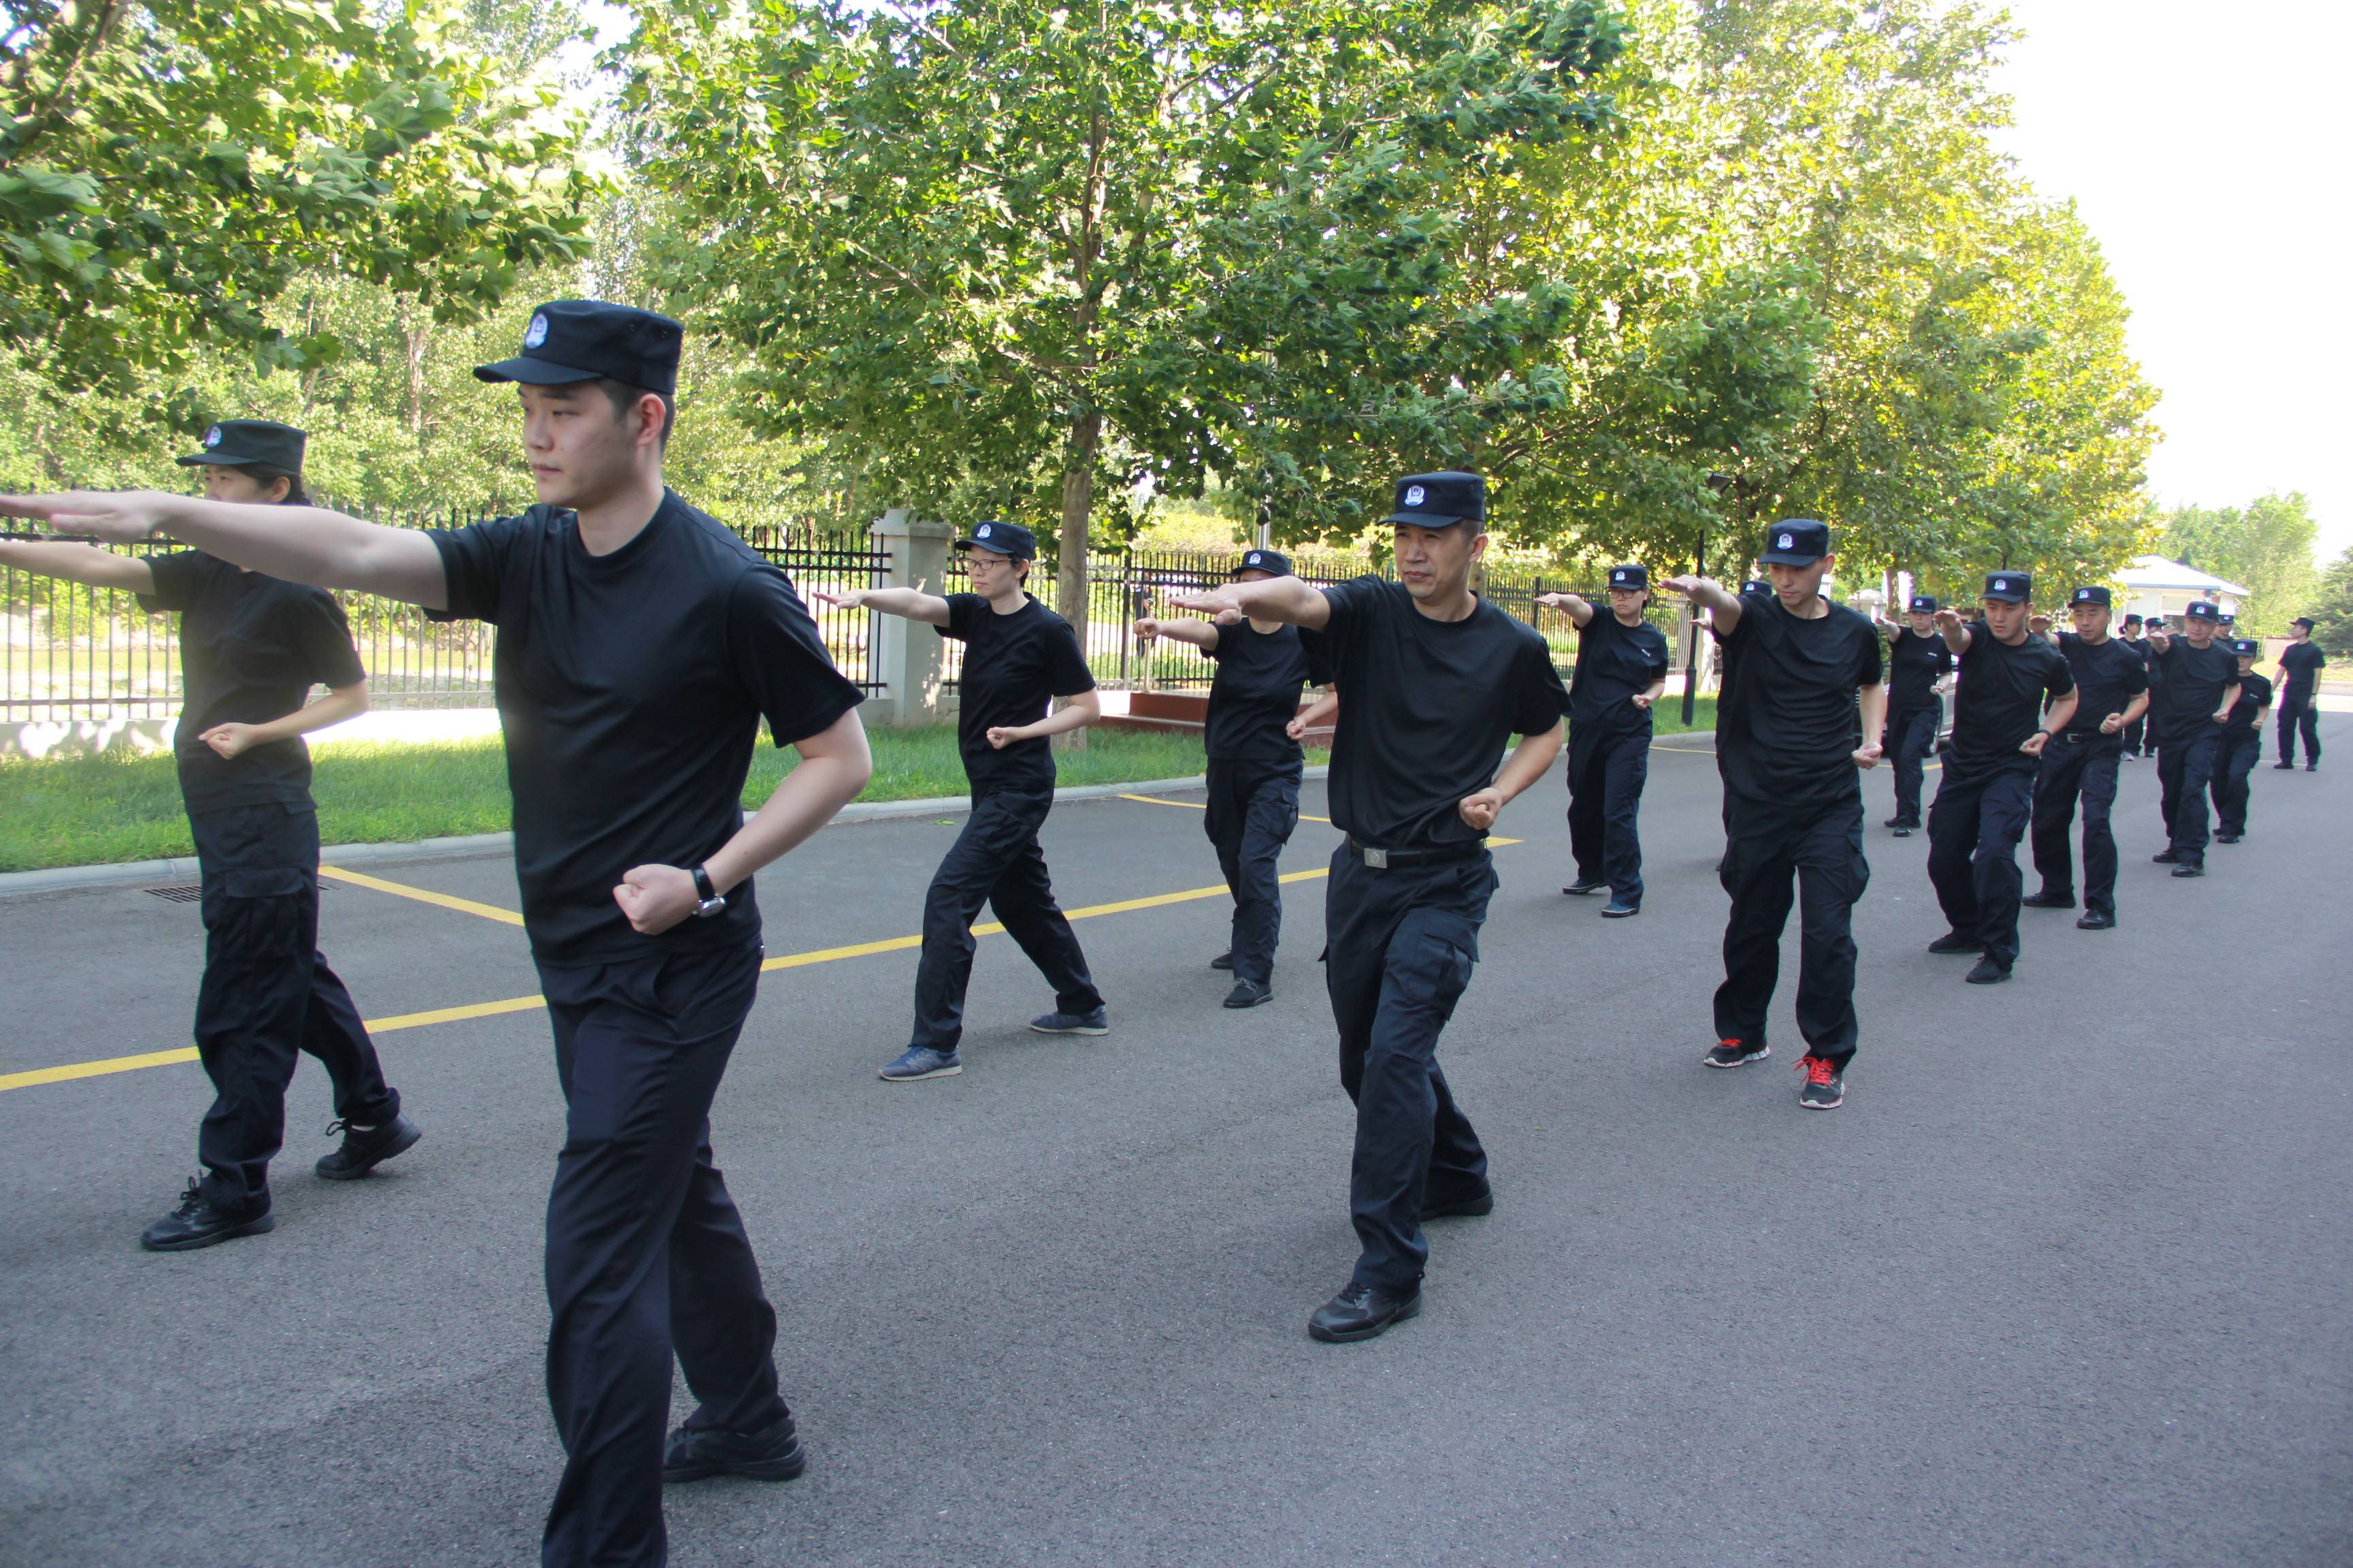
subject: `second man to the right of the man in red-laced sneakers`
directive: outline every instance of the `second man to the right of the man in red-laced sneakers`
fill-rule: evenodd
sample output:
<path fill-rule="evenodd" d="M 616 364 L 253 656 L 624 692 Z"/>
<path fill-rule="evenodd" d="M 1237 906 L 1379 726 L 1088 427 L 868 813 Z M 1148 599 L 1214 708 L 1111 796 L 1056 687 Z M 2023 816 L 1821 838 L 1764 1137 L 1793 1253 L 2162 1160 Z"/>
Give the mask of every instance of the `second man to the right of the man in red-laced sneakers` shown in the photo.
<path fill-rule="evenodd" d="M 2073 632 L 2052 642 L 2075 677 L 2075 717 L 2052 729 L 2035 771 L 2035 872 L 2042 886 L 2021 898 L 2031 910 L 2075 907 L 2075 860 L 2068 827 L 2082 799 L 2082 917 L 2085 931 L 2115 924 L 2115 773 L 2125 755 L 2122 736 L 2148 712 L 2148 665 L 2122 639 L 2108 635 L 2108 590 L 2092 583 L 2068 595 Z"/>

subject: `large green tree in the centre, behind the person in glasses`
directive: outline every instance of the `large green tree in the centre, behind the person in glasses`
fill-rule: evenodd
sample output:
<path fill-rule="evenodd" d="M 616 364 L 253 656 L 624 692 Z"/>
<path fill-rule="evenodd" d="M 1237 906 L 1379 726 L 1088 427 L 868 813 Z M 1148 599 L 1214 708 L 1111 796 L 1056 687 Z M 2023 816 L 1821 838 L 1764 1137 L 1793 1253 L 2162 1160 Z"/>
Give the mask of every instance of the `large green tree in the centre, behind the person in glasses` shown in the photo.
<path fill-rule="evenodd" d="M 1551 294 L 1449 308 L 1459 186 L 1607 120 L 1593 0 L 640 5 L 626 120 L 671 277 L 772 435 L 880 501 L 1096 515 L 1214 477 L 1360 520 L 1268 428 L 1362 449 L 1558 397 Z"/>

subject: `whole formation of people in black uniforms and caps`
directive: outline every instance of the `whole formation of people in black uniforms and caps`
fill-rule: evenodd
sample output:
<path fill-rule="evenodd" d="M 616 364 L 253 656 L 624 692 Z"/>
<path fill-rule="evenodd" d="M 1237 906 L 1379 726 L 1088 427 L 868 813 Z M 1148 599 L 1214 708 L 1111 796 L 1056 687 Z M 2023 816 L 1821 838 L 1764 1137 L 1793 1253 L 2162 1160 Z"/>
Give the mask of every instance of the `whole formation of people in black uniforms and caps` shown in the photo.
<path fill-rule="evenodd" d="M 753 872 L 854 799 L 871 757 L 859 691 L 833 668 L 793 583 L 664 487 L 678 350 L 668 317 L 555 301 L 534 313 L 518 357 L 475 371 L 518 388 L 539 491 L 520 517 L 405 531 L 313 508 L 301 433 L 268 421 L 221 421 L 205 451 L 184 458 L 205 468 L 202 498 L 0 501 L 61 534 L 188 545 L 153 559 L 0 545 L 9 564 L 129 588 L 181 614 L 179 769 L 207 929 L 198 1044 L 216 1098 L 202 1175 L 144 1237 L 158 1251 L 271 1227 L 266 1173 L 301 1051 L 334 1077 L 332 1131 L 344 1135 L 320 1175 L 365 1175 L 416 1143 L 315 947 L 318 820 L 301 733 L 367 703 L 348 628 L 322 590 L 499 625 L 515 875 L 567 1105 L 546 1220 L 548 1399 L 567 1455 L 544 1530 L 548 1566 L 661 1563 L 666 1481 L 779 1481 L 805 1467 L 776 1380 L 776 1314 L 713 1166 L 708 1110 L 760 973 Z M 1329 811 L 1344 837 L 1325 898 L 1325 987 L 1341 1086 L 1358 1110 L 1348 1211 L 1360 1255 L 1308 1319 L 1329 1342 L 1414 1316 L 1424 1225 L 1494 1208 L 1485 1147 L 1438 1041 L 1497 891 L 1487 835 L 1565 738 L 1577 860 L 1565 891 L 1607 889 L 1612 919 L 1642 910 L 1638 806 L 1668 668 L 1666 639 L 1645 621 L 1649 576 L 1612 569 L 1607 604 L 1544 597 L 1579 637 L 1565 689 L 1546 639 L 1471 585 L 1485 520 L 1478 475 L 1409 475 L 1386 517 L 1395 581 L 1313 588 L 1261 548 L 1228 583 L 1172 595 L 1172 609 L 1195 618 L 1136 623 L 1146 639 L 1181 639 L 1217 661 L 1207 832 L 1233 891 L 1231 940 L 1212 959 L 1231 971 L 1228 1009 L 1273 997 L 1299 741 L 1334 724 Z M 1722 644 L 1715 757 L 1732 907 L 1704 1060 L 1769 1056 L 1767 1009 L 1795 905 L 1800 1105 L 1817 1110 L 1842 1103 L 1859 1039 L 1852 907 L 1871 875 L 1861 771 L 1892 755 L 1892 825 L 1920 825 L 1939 682 L 1958 672 L 1960 698 L 1927 813 L 1929 875 L 1953 924 L 1934 950 L 1977 954 L 1972 980 L 2009 976 L 2021 903 L 2073 903 L 2078 806 L 2082 924 L 2115 922 L 2106 813 L 2115 757 L 2144 715 L 2167 778 L 2165 858 L 2177 875 L 2202 867 L 2212 780 L 2226 802 L 2221 837 L 2245 832 L 2247 769 L 2233 736 L 2254 733 L 2271 696 L 2245 654 L 2217 646 L 2212 607 L 2193 607 L 2181 637 L 2155 628 L 2144 654 L 2108 635 L 2106 590 L 2078 588 L 2075 630 L 2047 639 L 2026 576 L 2009 571 L 1988 576 L 1979 621 L 1915 599 L 1911 623 L 1882 637 L 1824 597 L 1831 543 L 1826 524 L 1788 520 L 1762 541 L 1765 578 L 1739 590 L 1701 576 L 1661 583 L 1706 609 Z M 1094 679 L 1071 625 L 1026 590 L 1028 529 L 981 522 L 958 548 L 969 592 L 816 595 L 965 644 L 958 738 L 972 811 L 925 896 L 908 1041 L 880 1067 L 896 1084 L 965 1067 L 984 903 L 1054 990 L 1054 1011 L 1033 1030 L 1111 1027 L 1038 837 L 1054 804 L 1052 736 L 1096 722 Z M 2311 759 L 2315 670 L 2318 651 L 2289 665 L 2287 696 L 2306 715 Z M 313 684 L 329 696 L 306 705 Z M 800 764 L 744 818 L 762 719 Z M 2282 708 L 2282 745 L 2287 733 Z M 2021 900 L 2014 849 L 2028 823 L 2042 889 Z M 678 1429 L 673 1356 L 696 1399 Z"/>

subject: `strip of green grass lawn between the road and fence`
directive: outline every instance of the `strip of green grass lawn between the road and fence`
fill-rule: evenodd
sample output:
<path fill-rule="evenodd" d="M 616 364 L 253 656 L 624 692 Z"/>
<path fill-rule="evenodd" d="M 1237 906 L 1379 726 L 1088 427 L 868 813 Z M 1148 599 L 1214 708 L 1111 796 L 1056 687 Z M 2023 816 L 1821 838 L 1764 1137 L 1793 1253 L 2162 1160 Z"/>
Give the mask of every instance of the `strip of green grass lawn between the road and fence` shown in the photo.
<path fill-rule="evenodd" d="M 1682 703 L 1659 708 L 1659 733 L 1680 731 Z M 1697 729 L 1715 724 L 1715 701 L 1701 698 Z M 875 729 L 875 776 L 861 799 L 932 799 L 965 792 L 955 731 Z M 793 766 L 793 752 L 762 745 L 744 783 L 755 809 Z M 489 741 L 449 745 L 315 748 L 318 825 L 327 844 L 445 839 L 506 832 L 506 748 Z M 1202 771 L 1200 741 L 1176 733 L 1099 729 L 1087 750 L 1054 755 L 1064 785 L 1188 778 Z M 1311 764 L 1327 762 L 1308 752 Z M 0 762 L 0 872 L 45 865 L 101 865 L 195 853 L 169 757 L 64 757 Z"/>

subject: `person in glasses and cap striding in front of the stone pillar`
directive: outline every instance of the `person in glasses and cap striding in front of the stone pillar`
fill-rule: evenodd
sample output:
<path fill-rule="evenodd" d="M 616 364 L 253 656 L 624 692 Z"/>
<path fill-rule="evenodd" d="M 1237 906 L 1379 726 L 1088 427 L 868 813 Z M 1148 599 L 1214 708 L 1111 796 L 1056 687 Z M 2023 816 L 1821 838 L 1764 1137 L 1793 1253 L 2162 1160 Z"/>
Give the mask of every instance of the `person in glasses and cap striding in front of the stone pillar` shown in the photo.
<path fill-rule="evenodd" d="M 880 609 L 939 628 L 965 644 L 958 679 L 955 748 L 972 783 L 972 816 L 932 872 L 922 900 L 922 959 L 915 964 L 915 1032 L 882 1065 L 892 1084 L 946 1079 L 965 1070 L 965 987 L 972 985 L 972 919 L 998 912 L 1007 936 L 1054 987 L 1040 1034 L 1108 1034 L 1104 994 L 1087 973 L 1071 922 L 1054 903 L 1038 830 L 1054 809 L 1052 736 L 1104 717 L 1094 675 L 1071 623 L 1026 588 L 1038 536 L 1019 522 L 988 520 L 955 541 L 972 592 L 939 597 L 920 588 L 816 592 L 821 604 Z M 1054 710 L 1054 698 L 1061 708 Z"/>

